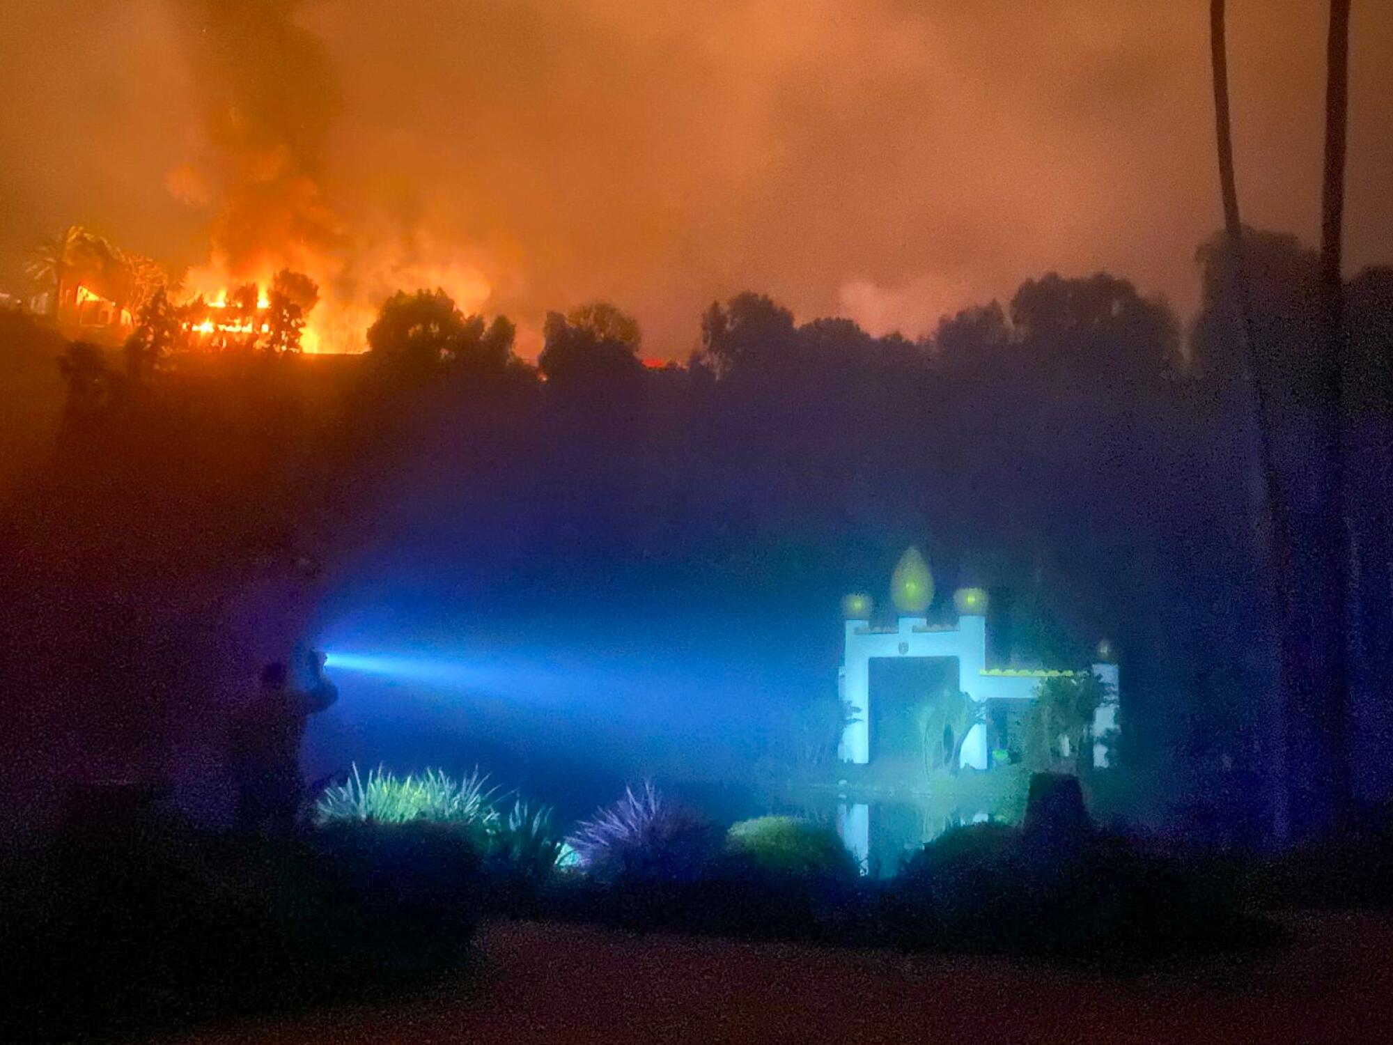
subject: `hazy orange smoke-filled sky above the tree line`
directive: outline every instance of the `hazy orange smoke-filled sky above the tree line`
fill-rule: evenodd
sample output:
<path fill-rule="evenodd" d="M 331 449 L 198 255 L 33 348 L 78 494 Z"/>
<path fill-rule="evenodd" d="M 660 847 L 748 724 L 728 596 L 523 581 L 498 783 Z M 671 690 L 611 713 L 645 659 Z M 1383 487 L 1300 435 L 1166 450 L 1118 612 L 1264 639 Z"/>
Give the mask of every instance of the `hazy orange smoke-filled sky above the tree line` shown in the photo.
<path fill-rule="evenodd" d="M 609 298 L 653 357 L 744 288 L 918 334 L 1106 268 L 1188 311 L 1220 219 L 1206 0 L 4 0 L 0 288 L 68 222 L 209 261 L 199 11 L 258 6 L 322 45 L 281 132 L 323 124 L 361 297 L 442 280 L 524 332 Z M 1325 13 L 1230 3 L 1245 217 L 1308 241 Z M 1393 4 L 1355 0 L 1351 269 L 1393 259 L 1390 56 Z"/>

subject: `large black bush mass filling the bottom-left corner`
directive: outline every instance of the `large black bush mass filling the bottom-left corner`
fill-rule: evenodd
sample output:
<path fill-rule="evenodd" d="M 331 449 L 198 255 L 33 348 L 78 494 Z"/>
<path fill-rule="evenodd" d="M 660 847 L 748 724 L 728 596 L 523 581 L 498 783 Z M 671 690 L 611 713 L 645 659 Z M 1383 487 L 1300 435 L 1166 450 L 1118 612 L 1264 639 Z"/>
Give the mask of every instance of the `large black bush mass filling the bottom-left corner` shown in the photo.
<path fill-rule="evenodd" d="M 418 982 L 460 964 L 474 867 L 458 839 L 421 832 L 70 832 L 7 897 L 0 1039 L 134 1034 Z"/>

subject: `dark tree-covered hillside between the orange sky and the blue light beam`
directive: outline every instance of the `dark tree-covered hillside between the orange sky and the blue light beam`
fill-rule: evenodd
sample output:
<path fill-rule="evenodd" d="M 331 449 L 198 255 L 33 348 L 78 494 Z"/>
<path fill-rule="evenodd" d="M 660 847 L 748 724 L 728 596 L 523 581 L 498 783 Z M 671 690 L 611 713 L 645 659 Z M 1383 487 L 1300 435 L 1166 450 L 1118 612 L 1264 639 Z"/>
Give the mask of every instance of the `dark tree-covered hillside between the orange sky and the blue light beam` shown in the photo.
<path fill-rule="evenodd" d="M 1286 235 L 1245 245 L 1275 453 L 1300 495 L 1318 258 Z M 1188 329 L 1106 273 L 1027 280 L 918 341 L 846 319 L 800 325 L 740 294 L 706 311 L 685 365 L 660 369 L 641 362 L 638 323 L 607 304 L 550 314 L 532 365 L 507 319 L 401 293 L 366 359 L 267 369 L 174 355 L 124 405 L 70 410 L 10 531 L 26 541 L 11 567 L 46 578 L 29 620 L 70 665 L 57 676 L 85 665 L 92 687 L 110 687 L 99 652 L 118 645 L 130 690 L 164 670 L 143 659 L 178 642 L 217 647 L 230 665 L 227 592 L 293 556 L 322 563 L 329 587 L 415 571 L 578 613 L 631 591 L 720 605 L 752 627 L 791 606 L 826 635 L 809 658 L 830 666 L 837 596 L 921 542 L 940 591 L 992 592 L 999 662 L 1081 665 L 1106 638 L 1131 755 L 1233 765 L 1258 790 L 1275 663 L 1261 472 L 1224 241 L 1198 262 Z M 1372 789 L 1387 783 L 1389 719 L 1373 698 L 1393 663 L 1393 270 L 1361 273 L 1348 300 L 1355 758 Z M 96 394 L 85 355 L 65 357 L 70 407 Z M 89 591 L 103 605 L 84 603 Z M 64 628 L 79 640 L 56 637 Z M 159 677 L 143 692 L 196 691 L 199 658 L 180 663 L 180 686 Z"/>

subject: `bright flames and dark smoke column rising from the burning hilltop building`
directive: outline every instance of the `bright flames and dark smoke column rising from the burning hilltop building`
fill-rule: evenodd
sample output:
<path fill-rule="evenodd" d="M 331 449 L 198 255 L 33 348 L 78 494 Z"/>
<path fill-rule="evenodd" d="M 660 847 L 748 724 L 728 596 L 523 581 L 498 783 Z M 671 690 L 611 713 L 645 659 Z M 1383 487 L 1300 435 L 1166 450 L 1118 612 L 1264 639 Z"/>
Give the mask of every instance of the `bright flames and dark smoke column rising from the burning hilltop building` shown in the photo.
<path fill-rule="evenodd" d="M 319 291 L 313 308 L 305 307 L 305 353 L 365 351 L 369 326 L 398 290 L 439 287 L 465 314 L 495 298 L 476 252 L 437 241 L 428 229 L 403 230 L 396 215 L 347 222 L 323 191 L 340 85 L 327 47 L 295 17 L 301 6 L 169 4 L 202 114 L 198 155 L 170 171 L 169 184 L 185 202 L 215 212 L 208 262 L 185 274 L 182 304 L 202 295 L 210 305 L 189 316 L 188 327 L 210 350 L 223 334 L 255 334 L 251 309 L 238 309 L 233 322 L 228 302 L 238 291 L 231 288 L 255 281 L 269 290 L 286 270 Z M 273 98 L 281 104 L 266 104 Z"/>

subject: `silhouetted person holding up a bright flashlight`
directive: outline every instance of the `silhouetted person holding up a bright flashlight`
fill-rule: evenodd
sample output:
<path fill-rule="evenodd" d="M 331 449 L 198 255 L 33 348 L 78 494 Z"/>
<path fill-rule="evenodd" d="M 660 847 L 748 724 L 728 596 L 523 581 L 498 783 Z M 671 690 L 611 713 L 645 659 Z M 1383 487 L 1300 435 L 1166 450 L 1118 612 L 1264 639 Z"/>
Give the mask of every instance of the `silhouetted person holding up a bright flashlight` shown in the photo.
<path fill-rule="evenodd" d="M 233 716 L 227 761 L 237 782 L 238 828 L 288 830 L 294 825 L 305 791 L 299 775 L 305 725 L 338 698 L 323 667 L 325 655 L 309 653 L 311 686 L 301 688 L 286 665 L 266 665 L 256 699 Z"/>

